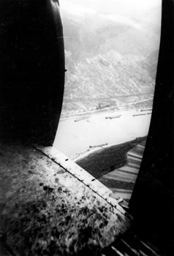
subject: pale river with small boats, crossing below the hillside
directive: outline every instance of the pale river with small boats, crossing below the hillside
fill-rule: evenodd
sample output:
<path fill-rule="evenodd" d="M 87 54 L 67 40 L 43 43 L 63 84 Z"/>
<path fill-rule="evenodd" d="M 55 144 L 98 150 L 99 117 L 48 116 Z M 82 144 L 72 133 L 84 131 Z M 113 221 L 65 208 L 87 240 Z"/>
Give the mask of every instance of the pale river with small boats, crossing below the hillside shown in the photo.
<path fill-rule="evenodd" d="M 70 159 L 75 159 L 99 145 L 116 145 L 148 135 L 151 111 L 124 110 L 61 118 L 53 146 Z M 133 116 L 144 114 L 143 116 Z M 121 115 L 119 118 L 106 118 Z"/>

